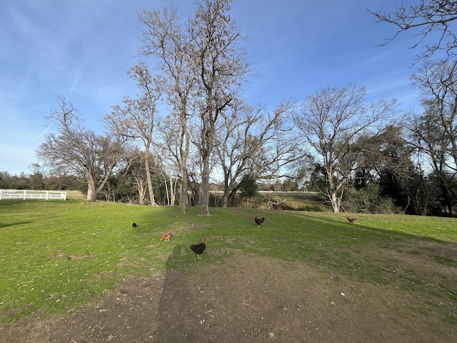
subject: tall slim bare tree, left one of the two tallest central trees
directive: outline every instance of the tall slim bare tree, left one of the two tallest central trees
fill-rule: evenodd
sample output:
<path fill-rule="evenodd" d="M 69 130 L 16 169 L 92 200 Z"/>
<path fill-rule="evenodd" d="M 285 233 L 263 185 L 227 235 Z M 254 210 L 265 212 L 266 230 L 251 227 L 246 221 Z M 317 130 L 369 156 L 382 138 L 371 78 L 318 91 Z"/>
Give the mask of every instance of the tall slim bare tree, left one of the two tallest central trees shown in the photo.
<path fill-rule="evenodd" d="M 140 37 L 142 45 L 139 48 L 139 55 L 154 56 L 164 71 L 165 91 L 171 106 L 169 126 L 164 127 L 171 129 L 170 136 L 175 137 L 173 144 L 170 145 L 170 151 L 177 148 L 173 156 L 181 173 L 179 206 L 181 212 L 186 213 L 187 157 L 190 146 L 187 121 L 191 114 L 191 94 L 196 77 L 195 70 L 189 66 L 192 58 L 188 51 L 189 35 L 179 24 L 176 8 L 172 6 L 163 12 L 143 11 L 139 21 L 145 26 Z"/>

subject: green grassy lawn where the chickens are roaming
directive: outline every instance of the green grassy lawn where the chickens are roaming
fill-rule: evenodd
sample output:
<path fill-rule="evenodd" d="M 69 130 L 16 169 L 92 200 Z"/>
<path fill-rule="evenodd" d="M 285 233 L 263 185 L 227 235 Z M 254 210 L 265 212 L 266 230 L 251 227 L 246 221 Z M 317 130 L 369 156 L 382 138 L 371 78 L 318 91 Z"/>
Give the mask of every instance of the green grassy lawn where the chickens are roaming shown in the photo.
<path fill-rule="evenodd" d="M 178 207 L 2 200 L 0 321 L 55 314 L 99 299 L 122 279 L 245 253 L 411 292 L 430 292 L 433 282 L 436 302 L 424 309 L 457 323 L 455 310 L 440 305 L 457 304 L 457 276 L 443 272 L 457 267 L 456 219 L 359 214 L 350 224 L 347 214 L 331 212 L 212 208 L 211 217 L 198 214 L 199 208 L 181 214 Z M 254 214 L 266 218 L 260 229 Z M 171 242 L 159 241 L 165 232 L 173 232 Z M 189 244 L 204 237 L 204 257 L 211 259 L 199 260 Z M 427 263 L 402 264 L 401 256 Z"/>

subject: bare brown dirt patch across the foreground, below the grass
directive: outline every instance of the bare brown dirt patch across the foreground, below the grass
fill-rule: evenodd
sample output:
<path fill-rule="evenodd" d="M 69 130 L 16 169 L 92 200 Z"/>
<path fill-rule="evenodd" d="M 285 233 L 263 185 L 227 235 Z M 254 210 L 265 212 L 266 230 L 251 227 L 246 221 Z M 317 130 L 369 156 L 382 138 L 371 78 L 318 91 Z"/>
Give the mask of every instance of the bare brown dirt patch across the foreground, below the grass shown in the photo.
<path fill-rule="evenodd" d="M 232 252 L 126 280 L 52 320 L 5 325 L 0 342 L 456 342 L 456 327 L 413 311 L 422 302 L 398 287 Z"/>

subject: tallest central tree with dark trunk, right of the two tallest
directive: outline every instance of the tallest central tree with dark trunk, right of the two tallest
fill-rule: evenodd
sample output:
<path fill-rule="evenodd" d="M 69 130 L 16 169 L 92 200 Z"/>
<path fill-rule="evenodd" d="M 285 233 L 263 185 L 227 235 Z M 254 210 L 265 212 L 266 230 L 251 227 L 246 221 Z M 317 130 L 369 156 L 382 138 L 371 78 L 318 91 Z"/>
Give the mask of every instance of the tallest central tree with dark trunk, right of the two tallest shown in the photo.
<path fill-rule="evenodd" d="M 239 33 L 229 16 L 230 0 L 206 0 L 198 4 L 189 20 L 189 54 L 198 71 L 196 111 L 201 134 L 197 146 L 201 155 L 201 215 L 209 216 L 210 159 L 216 142 L 216 122 L 236 99 L 241 81 L 248 74 Z"/>

